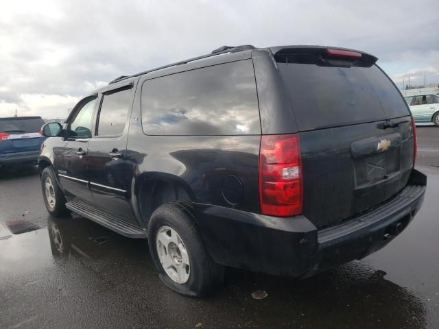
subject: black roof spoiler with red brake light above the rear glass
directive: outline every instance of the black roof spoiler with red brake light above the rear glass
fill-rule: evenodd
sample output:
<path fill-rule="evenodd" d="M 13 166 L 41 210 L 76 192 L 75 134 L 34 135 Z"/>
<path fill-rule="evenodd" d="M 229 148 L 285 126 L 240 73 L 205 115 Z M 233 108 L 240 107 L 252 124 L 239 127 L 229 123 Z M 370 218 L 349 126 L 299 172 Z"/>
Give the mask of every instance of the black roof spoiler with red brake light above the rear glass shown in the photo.
<path fill-rule="evenodd" d="M 327 60 L 353 60 L 356 62 L 364 62 L 369 65 L 375 64 L 378 58 L 354 49 L 324 46 L 278 46 L 270 47 L 274 58 L 278 62 L 285 62 L 285 58 L 289 56 L 318 56 Z"/>

